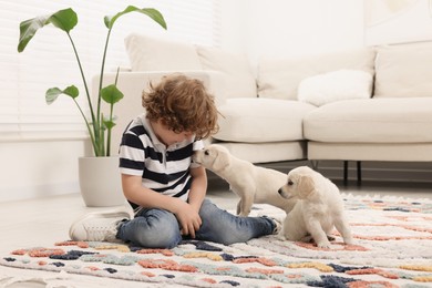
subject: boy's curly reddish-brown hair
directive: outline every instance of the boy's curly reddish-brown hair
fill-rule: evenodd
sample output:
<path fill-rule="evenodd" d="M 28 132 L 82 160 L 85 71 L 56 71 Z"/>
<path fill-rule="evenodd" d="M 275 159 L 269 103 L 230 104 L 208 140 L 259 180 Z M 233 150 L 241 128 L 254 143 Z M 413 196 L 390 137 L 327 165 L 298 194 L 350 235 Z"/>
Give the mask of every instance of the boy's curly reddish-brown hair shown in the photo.
<path fill-rule="evenodd" d="M 164 76 L 157 85 L 150 83 L 142 104 L 148 120 L 161 121 L 176 133 L 193 132 L 196 138 L 206 138 L 219 130 L 214 96 L 197 79 Z"/>

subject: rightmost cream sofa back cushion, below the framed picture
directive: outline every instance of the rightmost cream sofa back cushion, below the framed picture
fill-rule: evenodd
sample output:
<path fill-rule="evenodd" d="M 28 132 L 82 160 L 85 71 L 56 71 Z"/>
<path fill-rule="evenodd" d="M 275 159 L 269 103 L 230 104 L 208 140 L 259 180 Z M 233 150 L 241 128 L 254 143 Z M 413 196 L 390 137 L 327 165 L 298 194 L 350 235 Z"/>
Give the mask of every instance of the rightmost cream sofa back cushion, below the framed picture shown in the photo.
<path fill-rule="evenodd" d="M 376 97 L 432 96 L 432 44 L 383 47 L 376 63 Z"/>

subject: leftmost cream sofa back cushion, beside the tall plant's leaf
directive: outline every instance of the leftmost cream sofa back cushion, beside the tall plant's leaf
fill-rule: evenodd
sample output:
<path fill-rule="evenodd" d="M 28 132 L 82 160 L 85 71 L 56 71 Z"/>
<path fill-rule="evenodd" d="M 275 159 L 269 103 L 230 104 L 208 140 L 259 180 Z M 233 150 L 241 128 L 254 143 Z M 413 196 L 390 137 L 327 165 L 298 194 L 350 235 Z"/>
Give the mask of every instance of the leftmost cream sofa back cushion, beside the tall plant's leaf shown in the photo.
<path fill-rule="evenodd" d="M 132 33 L 125 38 L 132 71 L 202 70 L 191 43 Z"/>

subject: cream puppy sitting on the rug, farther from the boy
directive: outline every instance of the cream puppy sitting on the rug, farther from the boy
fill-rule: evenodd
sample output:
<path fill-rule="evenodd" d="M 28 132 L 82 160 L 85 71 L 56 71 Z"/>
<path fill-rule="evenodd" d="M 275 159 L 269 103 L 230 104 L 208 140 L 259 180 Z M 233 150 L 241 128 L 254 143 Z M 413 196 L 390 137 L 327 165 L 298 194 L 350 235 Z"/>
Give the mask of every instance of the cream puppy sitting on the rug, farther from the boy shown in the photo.
<path fill-rule="evenodd" d="M 279 189 L 282 197 L 298 199 L 287 215 L 280 235 L 288 240 L 315 240 L 320 248 L 330 248 L 328 235 L 333 227 L 346 244 L 352 244 L 351 230 L 344 216 L 339 188 L 320 173 L 300 166 L 288 173 Z"/>

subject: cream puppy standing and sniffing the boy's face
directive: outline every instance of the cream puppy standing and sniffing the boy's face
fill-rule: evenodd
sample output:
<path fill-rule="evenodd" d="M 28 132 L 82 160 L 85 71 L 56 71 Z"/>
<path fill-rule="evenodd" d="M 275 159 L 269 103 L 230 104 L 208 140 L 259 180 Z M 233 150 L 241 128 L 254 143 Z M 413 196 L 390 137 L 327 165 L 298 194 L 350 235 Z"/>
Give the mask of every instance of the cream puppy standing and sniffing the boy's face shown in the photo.
<path fill-rule="evenodd" d="M 297 202 L 286 199 L 278 193 L 286 183 L 286 174 L 239 160 L 222 145 L 208 145 L 196 151 L 192 158 L 228 182 L 230 189 L 240 197 L 237 204 L 239 216 L 249 215 L 254 203 L 270 204 L 289 213 Z"/>

